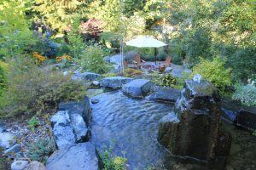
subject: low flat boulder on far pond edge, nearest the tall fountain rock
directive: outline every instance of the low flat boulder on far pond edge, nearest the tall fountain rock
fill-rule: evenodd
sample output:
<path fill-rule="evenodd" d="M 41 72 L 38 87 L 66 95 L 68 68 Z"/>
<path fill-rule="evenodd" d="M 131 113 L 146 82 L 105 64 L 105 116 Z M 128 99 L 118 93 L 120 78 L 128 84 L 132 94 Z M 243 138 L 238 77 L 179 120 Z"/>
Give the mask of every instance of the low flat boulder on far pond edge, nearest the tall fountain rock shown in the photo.
<path fill-rule="evenodd" d="M 160 88 L 153 94 L 150 94 L 148 99 L 163 100 L 176 102 L 180 96 L 180 90 L 175 88 Z"/>

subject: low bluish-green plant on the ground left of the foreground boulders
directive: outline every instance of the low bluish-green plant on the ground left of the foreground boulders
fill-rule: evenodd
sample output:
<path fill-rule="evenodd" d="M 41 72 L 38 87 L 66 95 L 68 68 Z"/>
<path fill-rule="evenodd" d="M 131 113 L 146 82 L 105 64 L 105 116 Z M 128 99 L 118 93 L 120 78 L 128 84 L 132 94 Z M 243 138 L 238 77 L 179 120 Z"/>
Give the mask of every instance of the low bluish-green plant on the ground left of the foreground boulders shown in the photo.
<path fill-rule="evenodd" d="M 32 144 L 28 144 L 28 151 L 26 154 L 32 161 L 45 163 L 47 158 L 55 151 L 55 149 L 54 139 L 38 139 Z"/>

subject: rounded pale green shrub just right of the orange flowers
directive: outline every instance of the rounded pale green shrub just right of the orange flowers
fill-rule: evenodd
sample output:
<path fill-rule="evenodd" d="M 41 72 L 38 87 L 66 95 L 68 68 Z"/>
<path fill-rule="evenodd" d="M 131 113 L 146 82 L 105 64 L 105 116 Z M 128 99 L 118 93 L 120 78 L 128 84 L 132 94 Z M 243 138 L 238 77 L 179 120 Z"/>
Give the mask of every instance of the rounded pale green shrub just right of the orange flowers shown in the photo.
<path fill-rule="evenodd" d="M 104 74 L 112 69 L 112 65 L 105 62 L 103 56 L 102 48 L 90 46 L 84 50 L 80 58 L 75 58 L 74 61 L 82 71 Z"/>

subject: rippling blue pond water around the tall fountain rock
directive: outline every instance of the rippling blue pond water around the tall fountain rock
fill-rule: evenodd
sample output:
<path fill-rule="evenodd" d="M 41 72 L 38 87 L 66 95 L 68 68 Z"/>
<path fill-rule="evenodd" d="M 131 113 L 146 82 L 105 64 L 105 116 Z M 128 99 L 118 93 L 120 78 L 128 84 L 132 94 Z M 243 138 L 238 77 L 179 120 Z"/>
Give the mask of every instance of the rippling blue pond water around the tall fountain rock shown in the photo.
<path fill-rule="evenodd" d="M 178 159 L 158 144 L 158 122 L 161 117 L 172 112 L 174 105 L 157 103 L 148 99 L 131 99 L 121 92 L 100 94 L 94 98 L 99 99 L 100 102 L 92 105 L 91 140 L 98 149 L 114 141 L 114 154 L 125 156 L 128 159 L 129 169 L 143 169 L 153 165 L 163 169 L 217 169 L 217 167 L 207 168 L 204 163 Z M 239 169 L 239 165 L 247 159 L 250 165 L 248 169 L 253 170 L 251 167 L 256 164 L 253 161 L 256 156 L 255 137 L 247 135 L 244 131 L 234 131 L 233 126 L 229 129 L 235 137 L 234 144 L 236 144 L 236 138 L 242 136 L 247 138 L 247 141 L 241 141 L 238 145 L 248 142 L 249 145 L 245 144 L 246 149 L 252 147 L 251 150 L 253 150 L 249 152 L 248 158 L 244 154 L 239 155 L 231 151 L 229 161 L 231 169 Z M 232 144 L 232 149 L 234 144 Z M 247 152 L 243 150 L 242 153 Z M 239 156 L 242 161 L 234 161 Z"/>

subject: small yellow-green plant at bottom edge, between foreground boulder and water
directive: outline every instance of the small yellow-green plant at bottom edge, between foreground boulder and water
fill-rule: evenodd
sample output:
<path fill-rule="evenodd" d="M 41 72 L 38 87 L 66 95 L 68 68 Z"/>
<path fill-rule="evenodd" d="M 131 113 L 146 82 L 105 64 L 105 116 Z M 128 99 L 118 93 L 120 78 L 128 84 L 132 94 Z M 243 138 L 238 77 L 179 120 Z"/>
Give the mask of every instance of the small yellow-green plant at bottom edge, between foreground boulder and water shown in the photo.
<path fill-rule="evenodd" d="M 108 150 L 104 150 L 100 155 L 104 170 L 125 170 L 125 162 L 127 159 L 122 156 L 113 156 L 113 146 Z"/>

